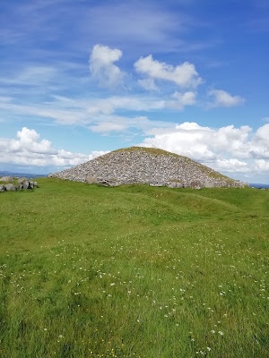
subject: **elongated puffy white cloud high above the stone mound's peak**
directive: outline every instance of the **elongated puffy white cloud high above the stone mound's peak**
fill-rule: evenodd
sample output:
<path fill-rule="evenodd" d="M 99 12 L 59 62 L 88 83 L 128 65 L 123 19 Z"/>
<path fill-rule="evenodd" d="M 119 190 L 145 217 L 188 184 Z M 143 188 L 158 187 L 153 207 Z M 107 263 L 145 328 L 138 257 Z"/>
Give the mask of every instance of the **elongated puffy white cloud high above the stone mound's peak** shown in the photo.
<path fill-rule="evenodd" d="M 154 60 L 152 55 L 148 55 L 136 61 L 134 68 L 136 72 L 146 74 L 152 79 L 171 81 L 183 88 L 196 87 L 202 82 L 195 65 L 188 62 L 173 66 Z"/>

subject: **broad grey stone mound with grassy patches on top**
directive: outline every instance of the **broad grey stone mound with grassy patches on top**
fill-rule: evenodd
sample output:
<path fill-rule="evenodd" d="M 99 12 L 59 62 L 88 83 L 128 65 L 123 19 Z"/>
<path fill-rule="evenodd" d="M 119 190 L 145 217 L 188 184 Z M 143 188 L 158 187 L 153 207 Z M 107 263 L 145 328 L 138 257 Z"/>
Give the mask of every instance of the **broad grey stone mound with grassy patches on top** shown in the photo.
<path fill-rule="evenodd" d="M 147 183 L 153 186 L 201 189 L 247 185 L 190 158 L 162 149 L 143 147 L 118 149 L 48 177 L 104 186 Z"/>

